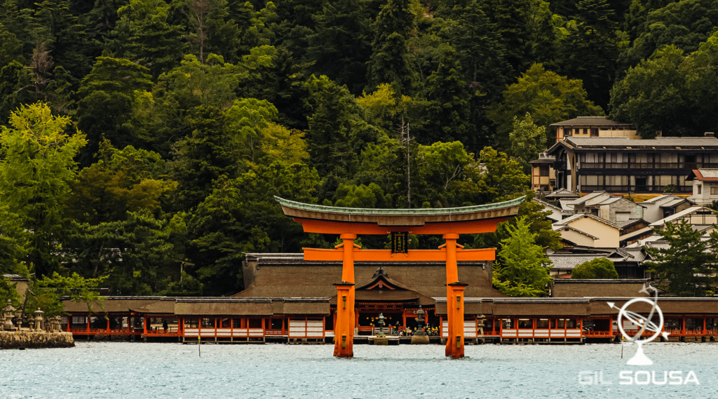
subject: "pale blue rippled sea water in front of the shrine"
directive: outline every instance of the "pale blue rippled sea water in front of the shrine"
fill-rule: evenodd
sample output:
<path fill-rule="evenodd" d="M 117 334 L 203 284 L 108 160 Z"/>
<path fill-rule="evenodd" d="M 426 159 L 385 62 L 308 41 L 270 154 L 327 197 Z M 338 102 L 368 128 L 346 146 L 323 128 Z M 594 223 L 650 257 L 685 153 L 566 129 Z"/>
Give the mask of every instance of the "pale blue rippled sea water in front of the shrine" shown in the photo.
<path fill-rule="evenodd" d="M 0 351 L 0 398 L 718 398 L 717 344 L 648 344 L 654 365 L 625 365 L 617 344 L 444 347 L 94 342 Z M 694 371 L 700 385 L 619 385 L 619 372 Z M 603 382 L 579 384 L 579 372 Z M 644 375 L 638 378 L 643 382 Z M 625 380 L 624 380 L 625 381 Z M 668 380 L 671 381 L 670 379 Z M 673 380 L 674 382 L 676 380 Z"/>

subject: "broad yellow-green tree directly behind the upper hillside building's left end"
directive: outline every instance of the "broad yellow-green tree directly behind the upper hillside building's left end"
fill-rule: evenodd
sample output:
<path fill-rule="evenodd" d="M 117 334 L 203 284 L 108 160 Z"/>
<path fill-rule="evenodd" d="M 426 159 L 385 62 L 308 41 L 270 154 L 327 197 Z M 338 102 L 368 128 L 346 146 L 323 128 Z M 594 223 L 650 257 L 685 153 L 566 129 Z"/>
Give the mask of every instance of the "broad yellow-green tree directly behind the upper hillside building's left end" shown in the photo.
<path fill-rule="evenodd" d="M 547 71 L 541 64 L 533 64 L 521 74 L 517 83 L 509 85 L 503 100 L 494 103 L 489 118 L 498 126 L 496 141 L 500 148 L 508 148 L 508 132 L 513 118 L 531 113 L 533 123 L 549 126 L 577 116 L 601 116 L 600 107 L 586 99 L 581 80 L 569 80 L 556 72 Z M 546 143 L 553 140 L 547 138 Z"/>

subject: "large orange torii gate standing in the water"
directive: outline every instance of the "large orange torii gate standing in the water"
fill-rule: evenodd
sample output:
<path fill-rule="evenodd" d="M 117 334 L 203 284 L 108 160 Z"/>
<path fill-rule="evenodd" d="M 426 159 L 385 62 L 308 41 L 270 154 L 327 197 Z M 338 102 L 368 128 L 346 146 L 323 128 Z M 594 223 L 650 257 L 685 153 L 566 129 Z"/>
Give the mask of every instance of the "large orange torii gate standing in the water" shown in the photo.
<path fill-rule="evenodd" d="M 508 217 L 516 215 L 524 197 L 497 204 L 472 207 L 383 210 L 309 205 L 274 197 L 284 215 L 302 223 L 305 233 L 337 234 L 342 244 L 333 250 L 304 248 L 304 260 L 342 261 L 342 281 L 337 287 L 337 324 L 334 355 L 353 357 L 354 261 L 443 261 L 447 265 L 447 318 L 449 337 L 446 355 L 464 357 L 464 290 L 459 281 L 458 260 L 495 260 L 496 248 L 465 250 L 457 244 L 460 234 L 491 233 Z M 437 250 L 362 250 L 357 235 L 390 233 L 441 234 L 445 243 Z"/>

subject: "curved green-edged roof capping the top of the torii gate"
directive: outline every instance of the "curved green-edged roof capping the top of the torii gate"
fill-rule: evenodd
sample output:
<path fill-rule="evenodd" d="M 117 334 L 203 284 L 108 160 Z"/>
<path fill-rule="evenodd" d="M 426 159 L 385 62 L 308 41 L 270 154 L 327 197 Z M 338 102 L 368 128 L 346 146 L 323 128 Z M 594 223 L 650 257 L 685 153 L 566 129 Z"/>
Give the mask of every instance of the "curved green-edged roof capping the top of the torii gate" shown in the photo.
<path fill-rule="evenodd" d="M 284 200 L 284 198 L 274 196 L 274 200 L 279 202 L 283 207 L 290 207 L 309 212 L 327 212 L 346 215 L 401 215 L 401 216 L 419 216 L 419 215 L 462 215 L 465 213 L 483 212 L 490 210 L 498 210 L 506 207 L 515 207 L 520 205 L 526 196 L 518 197 L 514 200 L 495 202 L 493 204 L 472 205 L 469 207 L 453 207 L 453 208 L 414 208 L 414 209 L 380 209 L 380 208 L 345 208 L 345 207 L 329 207 L 327 205 L 312 205 L 304 202 L 295 202 Z"/>

